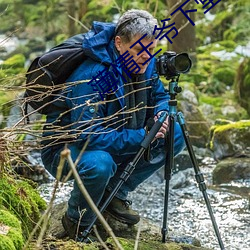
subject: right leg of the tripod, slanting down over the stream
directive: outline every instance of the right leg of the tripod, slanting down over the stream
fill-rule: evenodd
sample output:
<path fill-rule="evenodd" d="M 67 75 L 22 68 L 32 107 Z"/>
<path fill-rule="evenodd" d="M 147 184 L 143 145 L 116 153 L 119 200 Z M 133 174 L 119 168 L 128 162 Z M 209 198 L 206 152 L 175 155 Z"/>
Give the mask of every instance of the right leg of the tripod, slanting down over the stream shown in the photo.
<path fill-rule="evenodd" d="M 197 162 L 197 159 L 195 157 L 195 154 L 194 154 L 194 151 L 193 151 L 190 139 L 189 139 L 189 133 L 188 133 L 187 128 L 186 128 L 184 116 L 183 116 L 183 114 L 181 112 L 178 112 L 177 113 L 177 118 L 178 118 L 179 124 L 181 126 L 181 130 L 182 130 L 185 142 L 186 142 L 186 146 L 187 146 L 187 150 L 188 150 L 190 159 L 191 159 L 191 161 L 193 163 L 193 167 L 194 167 L 194 171 L 195 171 L 195 179 L 196 179 L 196 181 L 197 181 L 197 183 L 199 185 L 200 191 L 203 194 L 203 197 L 204 197 L 204 200 L 205 200 L 205 203 L 206 203 L 206 206 L 207 206 L 207 210 L 209 212 L 209 215 L 210 215 L 210 218 L 211 218 L 211 221 L 212 221 L 212 224 L 213 224 L 213 228 L 214 228 L 216 237 L 218 239 L 220 248 L 221 248 L 221 250 L 224 250 L 225 247 L 223 245 L 221 235 L 220 235 L 220 232 L 219 232 L 219 229 L 218 229 L 218 226 L 217 226 L 214 214 L 213 214 L 213 210 L 212 210 L 210 201 L 208 199 L 208 195 L 207 195 L 207 192 L 206 192 L 207 188 L 206 188 L 206 184 L 204 182 L 204 177 L 203 177 L 203 174 L 201 173 L 201 171 L 199 169 L 198 162 Z"/>

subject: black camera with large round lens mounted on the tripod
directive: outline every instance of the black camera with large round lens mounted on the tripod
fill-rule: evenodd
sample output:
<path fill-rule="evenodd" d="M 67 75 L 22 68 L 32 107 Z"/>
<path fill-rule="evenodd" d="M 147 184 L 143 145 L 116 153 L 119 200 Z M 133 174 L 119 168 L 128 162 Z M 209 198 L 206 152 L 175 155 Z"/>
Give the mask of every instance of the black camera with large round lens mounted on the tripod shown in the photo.
<path fill-rule="evenodd" d="M 164 52 L 156 59 L 156 69 L 159 75 L 167 80 L 187 73 L 192 66 L 192 61 L 187 53 L 176 54 L 174 51 Z"/>

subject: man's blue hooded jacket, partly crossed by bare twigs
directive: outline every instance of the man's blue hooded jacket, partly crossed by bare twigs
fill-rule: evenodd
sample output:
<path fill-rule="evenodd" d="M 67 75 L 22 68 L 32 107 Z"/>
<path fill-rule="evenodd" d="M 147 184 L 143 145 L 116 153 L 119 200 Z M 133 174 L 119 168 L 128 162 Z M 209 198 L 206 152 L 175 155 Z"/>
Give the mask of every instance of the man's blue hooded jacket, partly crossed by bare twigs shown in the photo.
<path fill-rule="evenodd" d="M 62 138 L 68 137 L 79 147 L 83 147 L 88 139 L 88 150 L 104 150 L 113 155 L 132 154 L 140 148 L 145 130 L 143 127 L 124 127 L 124 88 L 119 74 L 114 75 L 118 85 L 116 98 L 110 102 L 103 102 L 100 94 L 87 84 L 92 77 L 109 68 L 118 58 L 115 52 L 114 32 L 114 24 L 94 22 L 93 28 L 85 34 L 83 48 L 87 59 L 67 80 L 68 87 L 62 93 L 63 101 L 57 101 L 56 107 L 47 116 L 48 124 L 63 129 L 57 129 L 57 132 L 47 131 L 44 133 L 45 136 L 58 136 L 62 133 L 60 142 L 63 143 Z M 121 71 L 119 68 L 118 70 Z M 162 110 L 168 111 L 169 95 L 156 73 L 155 59 L 150 61 L 144 77 L 147 80 L 146 86 L 150 87 L 147 90 L 147 106 L 153 107 L 153 112 L 148 112 L 147 117 Z M 65 106 L 68 111 L 62 112 Z"/>

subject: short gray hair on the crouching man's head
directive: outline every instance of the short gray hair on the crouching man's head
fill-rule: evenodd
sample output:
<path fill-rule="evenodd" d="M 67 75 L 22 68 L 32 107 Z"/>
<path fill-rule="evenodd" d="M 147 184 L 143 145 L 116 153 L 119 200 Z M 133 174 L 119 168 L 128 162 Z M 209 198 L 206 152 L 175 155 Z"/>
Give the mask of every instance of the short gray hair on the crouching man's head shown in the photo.
<path fill-rule="evenodd" d="M 145 10 L 128 10 L 118 20 L 116 25 L 116 36 L 120 36 L 125 43 L 132 41 L 136 36 L 143 36 L 145 38 L 154 40 L 158 32 L 154 32 L 157 20 Z"/>

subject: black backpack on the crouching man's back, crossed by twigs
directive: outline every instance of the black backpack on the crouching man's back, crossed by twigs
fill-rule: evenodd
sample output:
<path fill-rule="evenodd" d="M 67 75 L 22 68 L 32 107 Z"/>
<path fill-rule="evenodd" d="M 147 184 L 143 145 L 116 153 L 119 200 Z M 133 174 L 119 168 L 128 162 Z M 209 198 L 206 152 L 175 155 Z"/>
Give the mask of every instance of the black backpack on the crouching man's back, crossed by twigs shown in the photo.
<path fill-rule="evenodd" d="M 83 40 L 84 34 L 73 36 L 31 63 L 26 73 L 25 114 L 28 105 L 41 114 L 51 110 L 66 79 L 86 58 Z"/>

